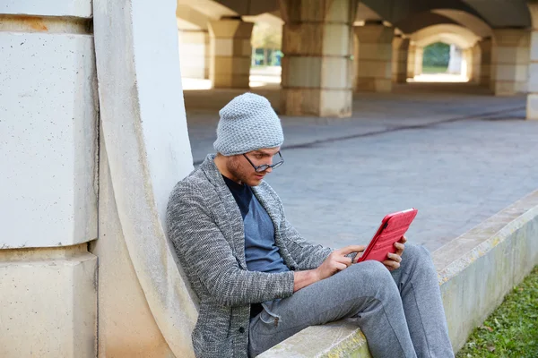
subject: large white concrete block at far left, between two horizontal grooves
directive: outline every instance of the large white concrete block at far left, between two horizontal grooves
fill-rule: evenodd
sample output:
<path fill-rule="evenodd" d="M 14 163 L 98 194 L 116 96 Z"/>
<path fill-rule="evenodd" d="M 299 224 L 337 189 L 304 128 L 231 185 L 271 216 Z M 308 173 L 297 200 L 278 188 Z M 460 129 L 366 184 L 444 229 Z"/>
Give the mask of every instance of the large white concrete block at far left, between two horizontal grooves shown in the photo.
<path fill-rule="evenodd" d="M 97 238 L 91 35 L 0 31 L 0 248 Z"/>

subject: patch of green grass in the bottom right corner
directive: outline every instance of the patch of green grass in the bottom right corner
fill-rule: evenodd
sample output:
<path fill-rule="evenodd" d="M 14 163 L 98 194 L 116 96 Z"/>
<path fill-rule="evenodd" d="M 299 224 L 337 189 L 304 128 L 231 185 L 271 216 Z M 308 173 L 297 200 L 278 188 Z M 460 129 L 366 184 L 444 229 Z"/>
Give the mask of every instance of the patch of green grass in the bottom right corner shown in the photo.
<path fill-rule="evenodd" d="M 456 358 L 538 357 L 538 266 L 509 293 Z"/>

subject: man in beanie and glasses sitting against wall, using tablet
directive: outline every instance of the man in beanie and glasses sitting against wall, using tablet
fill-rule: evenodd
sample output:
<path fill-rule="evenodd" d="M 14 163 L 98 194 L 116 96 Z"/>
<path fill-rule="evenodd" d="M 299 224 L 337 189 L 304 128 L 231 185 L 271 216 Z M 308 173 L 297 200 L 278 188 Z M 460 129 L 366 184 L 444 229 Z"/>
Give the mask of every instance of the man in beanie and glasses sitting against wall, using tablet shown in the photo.
<path fill-rule="evenodd" d="M 196 356 L 256 356 L 343 318 L 362 329 L 374 357 L 454 356 L 429 252 L 405 248 L 403 237 L 383 263 L 355 263 L 364 246 L 333 251 L 306 242 L 264 182 L 283 163 L 282 126 L 269 101 L 246 93 L 220 115 L 217 155 L 176 185 L 167 213 L 200 299 Z"/>

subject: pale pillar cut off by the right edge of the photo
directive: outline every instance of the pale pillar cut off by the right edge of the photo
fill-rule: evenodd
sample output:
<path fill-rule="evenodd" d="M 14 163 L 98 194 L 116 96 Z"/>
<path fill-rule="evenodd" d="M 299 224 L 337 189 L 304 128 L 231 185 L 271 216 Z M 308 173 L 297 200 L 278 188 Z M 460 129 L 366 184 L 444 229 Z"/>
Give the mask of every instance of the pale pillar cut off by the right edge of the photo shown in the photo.
<path fill-rule="evenodd" d="M 529 82 L 527 95 L 527 119 L 538 120 L 538 1 L 528 4 L 533 19 L 533 32 L 531 33 Z"/>

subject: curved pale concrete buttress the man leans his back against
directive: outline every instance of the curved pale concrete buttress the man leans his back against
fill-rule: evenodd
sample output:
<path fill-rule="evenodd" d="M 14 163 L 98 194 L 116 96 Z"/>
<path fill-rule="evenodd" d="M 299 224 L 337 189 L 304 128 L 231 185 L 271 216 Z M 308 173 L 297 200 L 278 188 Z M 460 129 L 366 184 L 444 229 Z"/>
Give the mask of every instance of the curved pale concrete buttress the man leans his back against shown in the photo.
<path fill-rule="evenodd" d="M 164 229 L 169 192 L 192 170 L 176 2 L 93 5 L 102 141 L 117 231 L 160 330 L 152 333 L 162 335 L 169 354 L 189 357 L 197 313 Z"/>

